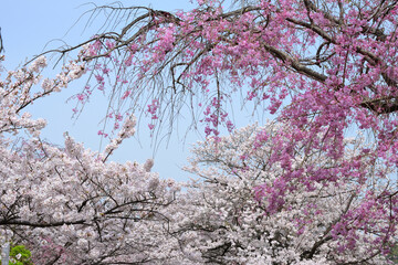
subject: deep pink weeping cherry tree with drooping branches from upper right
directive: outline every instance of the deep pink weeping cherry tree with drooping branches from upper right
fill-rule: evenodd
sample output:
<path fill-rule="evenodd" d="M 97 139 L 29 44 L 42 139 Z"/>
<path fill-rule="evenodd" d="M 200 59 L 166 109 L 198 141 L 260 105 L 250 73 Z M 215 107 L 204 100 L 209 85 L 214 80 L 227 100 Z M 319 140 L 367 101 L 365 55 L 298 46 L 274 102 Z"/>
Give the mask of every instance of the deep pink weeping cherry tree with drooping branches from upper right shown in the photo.
<path fill-rule="evenodd" d="M 107 89 L 114 98 L 109 112 L 144 110 L 151 131 L 189 110 L 193 125 L 202 123 L 206 136 L 220 141 L 221 126 L 233 130 L 229 104 L 241 94 L 290 128 L 274 137 L 270 157 L 282 173 L 253 187 L 263 214 L 289 209 L 296 188 L 311 192 L 354 181 L 360 200 L 339 215 L 331 236 L 344 236 L 338 251 L 349 253 L 375 229 L 374 219 L 384 225 L 376 229 L 374 245 L 385 252 L 396 236 L 398 214 L 391 179 L 398 163 L 397 1 L 258 0 L 230 8 L 221 0 L 197 2 L 191 11 L 174 13 L 94 9 L 115 15 L 118 28 L 61 51 L 65 55 L 84 45 L 92 78 L 80 103 L 96 88 Z M 368 145 L 347 158 L 344 139 L 359 132 Z M 296 150 L 322 153 L 322 162 L 338 161 L 338 167 L 295 167 Z"/>

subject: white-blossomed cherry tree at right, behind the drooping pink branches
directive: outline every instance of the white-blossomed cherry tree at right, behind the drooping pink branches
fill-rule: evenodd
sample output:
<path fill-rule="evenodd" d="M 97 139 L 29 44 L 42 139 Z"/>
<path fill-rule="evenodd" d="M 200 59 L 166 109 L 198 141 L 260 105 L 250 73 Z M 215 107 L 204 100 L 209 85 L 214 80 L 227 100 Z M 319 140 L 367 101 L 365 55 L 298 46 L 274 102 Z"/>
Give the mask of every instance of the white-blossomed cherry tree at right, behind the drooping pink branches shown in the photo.
<path fill-rule="evenodd" d="M 195 146 L 186 170 L 201 181 L 178 203 L 182 251 L 202 264 L 389 264 L 385 254 L 395 240 L 386 234 L 394 223 L 381 198 L 394 178 L 374 173 L 392 170 L 360 156 L 366 142 L 358 136 L 344 140 L 339 159 L 296 145 L 289 172 L 273 161 L 282 131 L 292 129 L 255 124 Z M 338 178 L 347 160 L 358 167 Z M 281 178 L 286 173 L 295 174 L 290 182 Z"/>

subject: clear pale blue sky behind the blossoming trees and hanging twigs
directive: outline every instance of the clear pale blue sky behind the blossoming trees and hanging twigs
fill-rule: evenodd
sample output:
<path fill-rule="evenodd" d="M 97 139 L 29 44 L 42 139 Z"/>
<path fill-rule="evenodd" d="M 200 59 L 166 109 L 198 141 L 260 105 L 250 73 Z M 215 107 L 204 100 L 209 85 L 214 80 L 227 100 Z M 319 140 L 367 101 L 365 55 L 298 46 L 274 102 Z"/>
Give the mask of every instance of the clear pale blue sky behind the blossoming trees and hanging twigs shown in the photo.
<path fill-rule="evenodd" d="M 87 40 L 95 34 L 96 25 L 93 24 L 85 29 L 88 17 L 82 17 L 82 14 L 94 8 L 93 4 L 102 6 L 106 3 L 109 2 L 3 0 L 0 15 L 0 26 L 6 49 L 6 62 L 3 65 L 8 70 L 14 70 L 25 60 L 48 49 L 59 47 L 64 42 L 74 45 Z M 124 6 L 145 6 L 167 11 L 190 10 L 195 7 L 189 0 L 129 0 L 122 1 L 122 3 Z M 98 23 L 100 21 L 101 18 Z M 46 72 L 45 74 L 54 75 L 56 72 Z M 73 119 L 72 108 L 74 107 L 74 100 L 67 103 L 67 99 L 78 93 L 83 86 L 84 83 L 82 82 L 73 82 L 66 91 L 36 102 L 29 112 L 35 118 L 42 117 L 48 120 L 48 127 L 43 130 L 42 137 L 50 142 L 63 146 L 63 132 L 69 131 L 77 141 L 84 142 L 86 148 L 98 150 L 101 138 L 97 136 L 97 131 L 102 128 L 98 123 L 106 112 L 106 97 L 97 93 L 97 96 L 91 99 L 80 118 L 77 120 Z M 252 121 L 250 114 L 240 114 L 239 117 L 235 117 L 238 127 Z M 182 129 L 175 130 L 170 140 L 160 142 L 156 150 L 151 138 L 148 136 L 149 131 L 140 131 L 139 139 L 135 137 L 124 142 L 112 156 L 111 160 L 119 162 L 135 160 L 143 163 L 147 158 L 154 158 L 155 167 L 153 171 L 159 172 L 161 178 L 188 180 L 190 174 L 181 171 L 180 168 L 187 165 L 190 144 L 203 139 L 203 135 L 195 131 L 185 135 L 184 120 L 179 126 Z M 102 148 L 104 148 L 104 145 Z"/>

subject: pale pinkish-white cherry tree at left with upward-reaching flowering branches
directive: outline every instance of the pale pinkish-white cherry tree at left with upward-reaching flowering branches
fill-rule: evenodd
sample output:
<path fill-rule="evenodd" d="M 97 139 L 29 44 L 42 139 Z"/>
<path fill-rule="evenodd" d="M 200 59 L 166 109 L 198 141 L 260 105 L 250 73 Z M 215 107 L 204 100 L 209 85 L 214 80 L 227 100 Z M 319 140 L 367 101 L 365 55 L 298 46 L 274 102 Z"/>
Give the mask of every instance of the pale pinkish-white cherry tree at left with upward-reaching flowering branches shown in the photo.
<path fill-rule="evenodd" d="M 167 211 L 179 184 L 150 172 L 153 160 L 106 162 L 134 135 L 135 117 L 125 119 L 103 153 L 67 134 L 63 148 L 41 140 L 45 120 L 23 109 L 85 72 L 76 60 L 55 78 L 41 80 L 45 65 L 39 57 L 0 82 L 1 244 L 28 246 L 34 264 L 179 263 Z"/>

